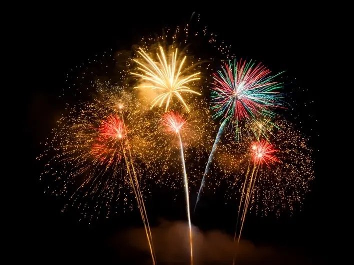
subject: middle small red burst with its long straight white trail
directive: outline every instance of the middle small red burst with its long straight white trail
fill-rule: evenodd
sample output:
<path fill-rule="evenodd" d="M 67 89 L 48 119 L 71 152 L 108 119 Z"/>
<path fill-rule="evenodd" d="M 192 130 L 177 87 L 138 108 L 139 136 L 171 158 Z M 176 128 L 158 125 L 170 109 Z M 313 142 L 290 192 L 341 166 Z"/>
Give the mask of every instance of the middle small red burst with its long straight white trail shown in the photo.
<path fill-rule="evenodd" d="M 185 125 L 185 119 L 178 112 L 167 112 L 162 116 L 162 123 L 165 127 L 165 131 L 169 133 L 175 133 L 178 135 L 179 148 L 180 148 L 180 159 L 183 168 L 183 181 L 185 190 L 185 202 L 187 208 L 188 226 L 189 226 L 189 245 L 190 245 L 190 264 L 193 264 L 193 248 L 192 248 L 192 231 L 191 231 L 191 221 L 190 221 L 190 209 L 189 209 L 189 190 L 188 190 L 188 178 L 185 169 L 184 153 L 183 153 L 183 143 L 180 137 L 180 130 Z"/>

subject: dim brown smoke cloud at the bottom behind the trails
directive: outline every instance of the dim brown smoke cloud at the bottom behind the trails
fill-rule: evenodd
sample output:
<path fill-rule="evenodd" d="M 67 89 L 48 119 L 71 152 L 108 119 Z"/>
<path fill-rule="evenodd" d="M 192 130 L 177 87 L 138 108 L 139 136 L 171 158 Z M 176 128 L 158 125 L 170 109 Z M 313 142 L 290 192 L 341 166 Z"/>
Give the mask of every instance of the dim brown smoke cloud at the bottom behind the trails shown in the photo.
<path fill-rule="evenodd" d="M 162 221 L 158 227 L 152 228 L 152 238 L 159 265 L 189 264 L 187 223 Z M 119 233 L 113 242 L 114 248 L 119 250 L 120 255 L 126 255 L 125 258 L 131 264 L 150 263 L 149 249 L 142 228 Z M 131 253 L 135 253 L 133 257 L 131 257 Z M 237 265 L 312 264 L 305 257 L 295 255 L 288 250 L 256 246 L 245 240 L 237 246 L 233 242 L 233 237 L 221 231 L 202 232 L 193 227 L 193 261 L 195 265 L 232 264 L 235 253 L 235 264 Z"/>

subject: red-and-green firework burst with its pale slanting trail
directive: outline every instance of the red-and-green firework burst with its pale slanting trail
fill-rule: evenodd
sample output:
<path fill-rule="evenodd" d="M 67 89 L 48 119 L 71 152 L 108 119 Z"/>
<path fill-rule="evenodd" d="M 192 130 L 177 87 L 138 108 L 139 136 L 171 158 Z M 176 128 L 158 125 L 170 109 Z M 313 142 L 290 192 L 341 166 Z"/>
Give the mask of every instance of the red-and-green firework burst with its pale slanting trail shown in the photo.
<path fill-rule="evenodd" d="M 278 75 L 278 74 L 277 74 Z M 247 128 L 255 134 L 252 124 L 262 121 L 260 127 L 263 133 L 271 122 L 264 117 L 272 118 L 274 113 L 271 108 L 280 107 L 280 94 L 274 90 L 281 87 L 281 83 L 274 81 L 277 75 L 270 75 L 270 70 L 265 66 L 254 62 L 239 60 L 222 66 L 222 71 L 213 75 L 214 83 L 211 87 L 211 107 L 216 111 L 214 117 L 221 117 L 221 125 L 211 149 L 204 175 L 201 180 L 194 211 L 200 199 L 200 194 L 205 183 L 217 142 L 222 134 L 223 127 L 227 122 L 235 125 L 236 140 L 240 135 L 240 121 L 244 120 Z M 257 135 L 259 137 L 259 134 Z"/>

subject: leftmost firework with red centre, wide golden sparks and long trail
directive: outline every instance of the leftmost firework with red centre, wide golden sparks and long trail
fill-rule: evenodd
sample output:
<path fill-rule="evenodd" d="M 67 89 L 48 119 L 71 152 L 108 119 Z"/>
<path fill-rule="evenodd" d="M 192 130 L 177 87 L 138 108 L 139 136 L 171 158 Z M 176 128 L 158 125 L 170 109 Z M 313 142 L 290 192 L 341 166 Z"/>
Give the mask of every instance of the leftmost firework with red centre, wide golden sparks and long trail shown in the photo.
<path fill-rule="evenodd" d="M 42 175 L 51 175 L 61 184 L 52 193 L 71 193 L 72 206 L 79 208 L 84 218 L 94 202 L 89 221 L 95 215 L 97 218 L 102 213 L 109 215 L 112 207 L 126 205 L 133 194 L 155 264 L 151 232 L 127 135 L 131 132 L 134 136 L 136 129 L 131 123 L 127 130 L 124 123 L 123 110 L 129 121 L 138 116 L 138 111 L 128 106 L 133 104 L 129 93 L 115 94 L 100 94 L 93 102 L 73 107 L 60 119 L 47 151 L 55 155 Z"/>

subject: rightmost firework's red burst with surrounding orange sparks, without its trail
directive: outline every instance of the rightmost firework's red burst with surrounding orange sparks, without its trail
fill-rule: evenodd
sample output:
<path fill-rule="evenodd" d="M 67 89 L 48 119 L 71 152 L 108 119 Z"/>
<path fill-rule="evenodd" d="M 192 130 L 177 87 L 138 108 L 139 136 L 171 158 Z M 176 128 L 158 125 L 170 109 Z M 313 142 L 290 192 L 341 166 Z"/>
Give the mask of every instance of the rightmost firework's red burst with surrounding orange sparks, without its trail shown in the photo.
<path fill-rule="evenodd" d="M 231 132 L 225 134 L 215 156 L 217 169 L 228 178 L 227 198 L 234 201 L 242 197 L 248 164 L 252 166 L 256 162 L 263 165 L 257 172 L 249 210 L 261 216 L 278 216 L 281 212 L 291 213 L 301 207 L 313 180 L 313 162 L 308 140 L 300 131 L 290 122 L 279 118 L 274 121 L 272 135 L 269 137 L 272 145 L 255 136 L 243 142 L 231 141 L 232 138 Z M 259 143 L 255 149 L 254 143 Z M 277 151 L 272 152 L 274 149 Z"/>

